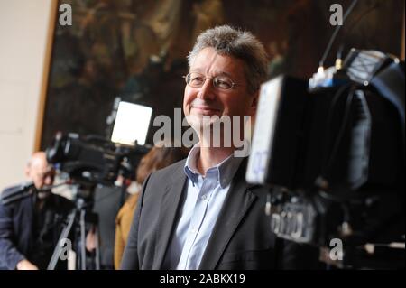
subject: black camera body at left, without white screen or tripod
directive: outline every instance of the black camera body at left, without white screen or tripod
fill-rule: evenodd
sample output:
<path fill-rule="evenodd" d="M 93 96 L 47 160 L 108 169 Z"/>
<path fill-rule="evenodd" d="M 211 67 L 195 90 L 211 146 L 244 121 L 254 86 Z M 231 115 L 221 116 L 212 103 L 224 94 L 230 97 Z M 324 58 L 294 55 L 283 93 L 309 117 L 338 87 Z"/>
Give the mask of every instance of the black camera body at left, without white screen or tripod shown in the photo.
<path fill-rule="evenodd" d="M 74 181 L 108 185 L 118 175 L 134 180 L 135 169 L 148 150 L 145 145 L 115 144 L 98 136 L 58 133 L 46 154 L 49 163 L 58 163 Z"/>

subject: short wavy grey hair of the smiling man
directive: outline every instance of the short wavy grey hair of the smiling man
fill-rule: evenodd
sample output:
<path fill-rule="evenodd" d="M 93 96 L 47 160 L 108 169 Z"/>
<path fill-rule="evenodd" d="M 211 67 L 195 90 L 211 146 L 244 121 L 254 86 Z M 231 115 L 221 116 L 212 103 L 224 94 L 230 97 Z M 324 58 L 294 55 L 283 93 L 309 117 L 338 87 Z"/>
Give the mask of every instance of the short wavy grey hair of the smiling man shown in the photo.
<path fill-rule="evenodd" d="M 263 44 L 252 33 L 236 30 L 228 25 L 206 30 L 198 36 L 189 52 L 189 68 L 198 53 L 208 47 L 214 48 L 220 55 L 243 60 L 250 93 L 256 92 L 266 80 L 268 58 Z"/>

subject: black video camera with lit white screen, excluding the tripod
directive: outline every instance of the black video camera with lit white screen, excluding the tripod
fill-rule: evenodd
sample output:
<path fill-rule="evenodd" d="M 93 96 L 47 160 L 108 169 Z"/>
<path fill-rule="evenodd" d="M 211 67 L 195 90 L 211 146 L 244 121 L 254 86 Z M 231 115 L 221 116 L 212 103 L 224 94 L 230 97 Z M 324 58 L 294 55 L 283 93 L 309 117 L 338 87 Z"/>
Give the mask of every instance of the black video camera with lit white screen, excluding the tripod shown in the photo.
<path fill-rule="evenodd" d="M 107 119 L 112 125 L 111 140 L 58 133 L 46 151 L 48 162 L 57 163 L 79 184 L 109 185 L 119 175 L 134 180 L 138 163 L 150 150 L 145 140 L 152 108 L 120 100 L 116 99 L 112 116 Z"/>

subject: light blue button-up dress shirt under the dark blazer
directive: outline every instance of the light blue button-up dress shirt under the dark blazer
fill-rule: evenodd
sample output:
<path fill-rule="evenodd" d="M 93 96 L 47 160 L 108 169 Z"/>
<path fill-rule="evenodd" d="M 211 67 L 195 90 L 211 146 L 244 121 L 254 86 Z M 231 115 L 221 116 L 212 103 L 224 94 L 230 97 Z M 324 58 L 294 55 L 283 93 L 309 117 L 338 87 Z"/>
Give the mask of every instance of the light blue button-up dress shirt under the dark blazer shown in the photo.
<path fill-rule="evenodd" d="M 167 269 L 198 269 L 230 183 L 243 160 L 231 154 L 222 163 L 209 168 L 203 177 L 197 169 L 199 153 L 200 148 L 193 147 L 185 164 L 186 199 L 165 255 L 164 267 Z"/>

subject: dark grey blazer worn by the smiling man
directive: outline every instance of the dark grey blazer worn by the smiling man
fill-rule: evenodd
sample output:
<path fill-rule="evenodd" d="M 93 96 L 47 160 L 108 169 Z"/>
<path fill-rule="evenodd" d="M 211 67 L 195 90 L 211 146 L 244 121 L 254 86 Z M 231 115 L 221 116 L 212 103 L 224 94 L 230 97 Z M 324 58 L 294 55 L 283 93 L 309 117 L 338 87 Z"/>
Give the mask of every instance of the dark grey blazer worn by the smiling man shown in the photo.
<path fill-rule="evenodd" d="M 167 268 L 163 260 L 176 229 L 187 183 L 185 162 L 154 172 L 143 183 L 121 269 Z M 246 161 L 235 173 L 199 269 L 303 267 L 298 261 L 300 247 L 271 232 L 270 218 L 264 213 L 266 190 L 245 182 L 245 168 Z"/>

